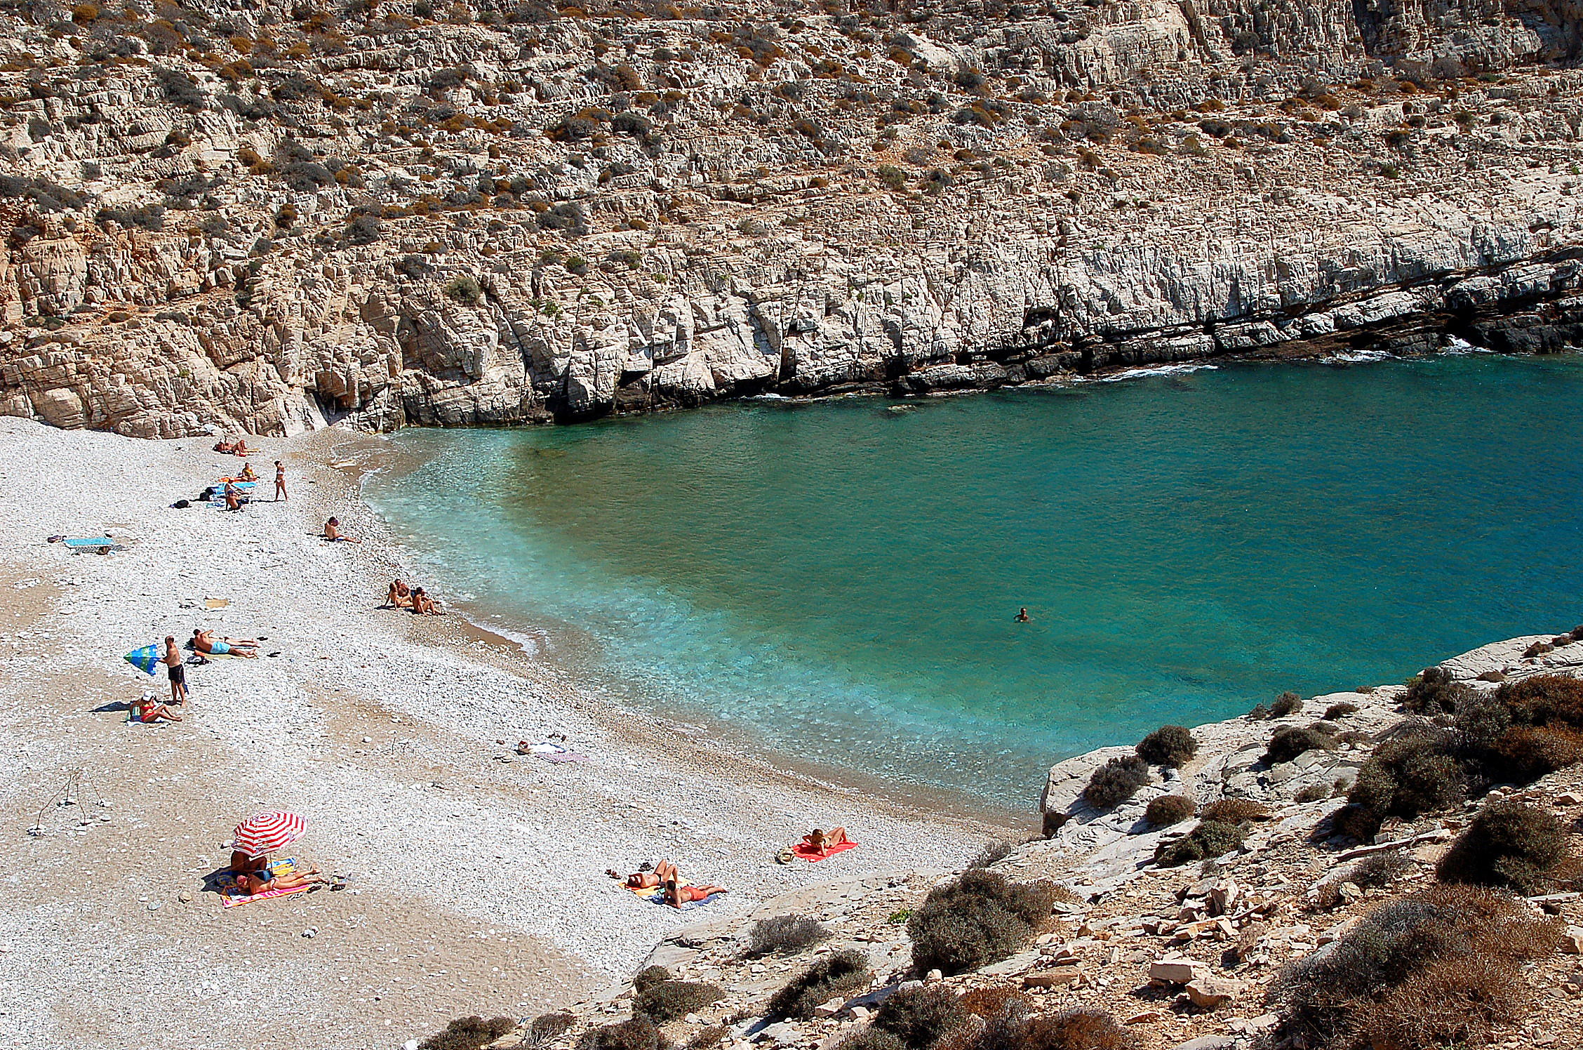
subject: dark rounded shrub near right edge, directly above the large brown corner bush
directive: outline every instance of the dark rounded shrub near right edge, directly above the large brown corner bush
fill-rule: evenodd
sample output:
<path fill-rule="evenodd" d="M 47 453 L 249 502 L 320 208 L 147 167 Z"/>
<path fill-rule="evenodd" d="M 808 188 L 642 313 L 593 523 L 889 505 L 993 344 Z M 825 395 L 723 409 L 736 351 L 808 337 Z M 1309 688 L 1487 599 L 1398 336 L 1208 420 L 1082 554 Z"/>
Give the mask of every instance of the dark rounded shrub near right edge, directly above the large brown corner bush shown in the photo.
<path fill-rule="evenodd" d="M 1566 857 L 1561 820 L 1520 801 L 1493 801 L 1456 836 L 1434 877 L 1539 893 Z"/>

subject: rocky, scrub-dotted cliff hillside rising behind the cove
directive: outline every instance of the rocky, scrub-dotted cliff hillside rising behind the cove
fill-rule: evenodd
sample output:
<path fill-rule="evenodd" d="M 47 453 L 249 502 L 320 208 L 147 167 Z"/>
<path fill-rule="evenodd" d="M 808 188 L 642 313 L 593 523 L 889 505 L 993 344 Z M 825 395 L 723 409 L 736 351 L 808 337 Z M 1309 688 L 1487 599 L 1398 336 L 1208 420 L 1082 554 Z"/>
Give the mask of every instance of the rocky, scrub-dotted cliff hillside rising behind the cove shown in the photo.
<path fill-rule="evenodd" d="M 1583 336 L 1570 2 L 0 5 L 0 412 L 505 424 Z"/>

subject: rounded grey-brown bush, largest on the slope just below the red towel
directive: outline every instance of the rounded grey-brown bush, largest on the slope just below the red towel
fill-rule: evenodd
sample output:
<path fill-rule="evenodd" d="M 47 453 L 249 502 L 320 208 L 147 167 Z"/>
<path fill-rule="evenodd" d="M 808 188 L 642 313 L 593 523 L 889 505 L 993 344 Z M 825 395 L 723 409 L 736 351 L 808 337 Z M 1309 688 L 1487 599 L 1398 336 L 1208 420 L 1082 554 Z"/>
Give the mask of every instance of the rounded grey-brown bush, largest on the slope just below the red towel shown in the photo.
<path fill-rule="evenodd" d="M 929 890 L 907 920 L 920 971 L 959 974 L 1007 958 L 1048 922 L 1050 882 L 1018 884 L 997 871 L 964 871 Z"/>

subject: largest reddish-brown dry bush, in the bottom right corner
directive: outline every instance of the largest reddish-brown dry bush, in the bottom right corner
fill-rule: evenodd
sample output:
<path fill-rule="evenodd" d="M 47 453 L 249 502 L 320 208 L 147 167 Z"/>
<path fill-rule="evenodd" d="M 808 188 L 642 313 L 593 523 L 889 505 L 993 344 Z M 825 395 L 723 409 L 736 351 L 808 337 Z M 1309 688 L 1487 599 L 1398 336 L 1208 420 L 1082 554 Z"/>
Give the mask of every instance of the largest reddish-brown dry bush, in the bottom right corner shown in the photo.
<path fill-rule="evenodd" d="M 1395 900 L 1276 974 L 1276 1036 L 1311 1050 L 1482 1044 L 1521 1017 L 1521 964 L 1555 952 L 1559 930 L 1493 890 L 1436 885 Z"/>

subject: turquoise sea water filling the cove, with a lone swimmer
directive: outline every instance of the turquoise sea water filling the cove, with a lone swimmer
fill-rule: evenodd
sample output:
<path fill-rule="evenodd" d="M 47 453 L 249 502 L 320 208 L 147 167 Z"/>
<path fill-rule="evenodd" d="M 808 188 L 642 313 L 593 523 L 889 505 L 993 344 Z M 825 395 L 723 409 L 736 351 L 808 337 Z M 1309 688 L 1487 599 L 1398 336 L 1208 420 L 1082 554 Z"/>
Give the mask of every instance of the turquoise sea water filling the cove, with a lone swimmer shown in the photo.
<path fill-rule="evenodd" d="M 408 431 L 421 466 L 366 494 L 617 702 L 997 803 L 1162 722 L 1583 621 L 1578 356 L 893 404 Z"/>

